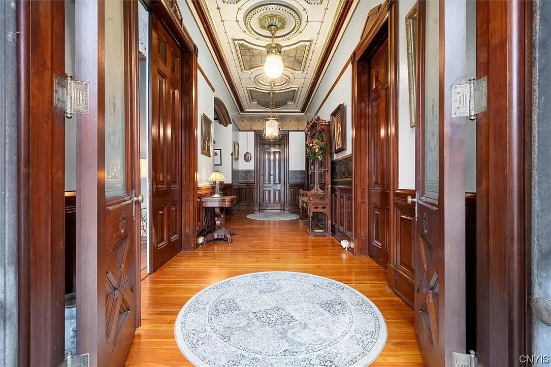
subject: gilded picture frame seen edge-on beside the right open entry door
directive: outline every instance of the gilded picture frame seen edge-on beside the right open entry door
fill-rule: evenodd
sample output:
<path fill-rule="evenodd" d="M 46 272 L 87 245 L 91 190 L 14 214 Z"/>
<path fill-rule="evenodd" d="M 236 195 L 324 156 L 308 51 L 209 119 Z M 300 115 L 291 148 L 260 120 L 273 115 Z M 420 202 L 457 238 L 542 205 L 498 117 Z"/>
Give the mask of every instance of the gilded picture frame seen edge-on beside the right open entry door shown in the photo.
<path fill-rule="evenodd" d="M 408 64 L 409 127 L 415 127 L 417 92 L 417 3 L 406 14 L 406 58 Z"/>

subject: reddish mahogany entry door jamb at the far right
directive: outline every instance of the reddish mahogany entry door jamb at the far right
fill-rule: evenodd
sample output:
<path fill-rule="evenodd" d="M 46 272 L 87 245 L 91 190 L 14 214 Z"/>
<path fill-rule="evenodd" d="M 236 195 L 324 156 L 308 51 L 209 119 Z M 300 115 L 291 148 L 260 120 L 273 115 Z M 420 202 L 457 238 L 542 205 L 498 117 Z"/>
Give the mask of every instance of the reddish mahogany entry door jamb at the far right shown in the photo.
<path fill-rule="evenodd" d="M 477 2 L 476 76 L 488 76 L 488 110 L 477 115 L 476 352 L 487 366 L 521 366 L 518 355 L 531 354 L 532 7 Z"/>

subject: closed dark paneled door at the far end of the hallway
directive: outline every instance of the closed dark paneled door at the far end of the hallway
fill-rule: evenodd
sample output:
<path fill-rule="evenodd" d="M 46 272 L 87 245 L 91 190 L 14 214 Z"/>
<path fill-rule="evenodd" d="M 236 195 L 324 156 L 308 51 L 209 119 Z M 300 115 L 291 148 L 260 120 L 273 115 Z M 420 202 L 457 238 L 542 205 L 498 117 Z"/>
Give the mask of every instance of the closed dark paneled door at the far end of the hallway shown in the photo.
<path fill-rule="evenodd" d="M 283 210 L 284 198 L 284 143 L 260 140 L 260 164 L 258 181 L 260 210 Z"/>

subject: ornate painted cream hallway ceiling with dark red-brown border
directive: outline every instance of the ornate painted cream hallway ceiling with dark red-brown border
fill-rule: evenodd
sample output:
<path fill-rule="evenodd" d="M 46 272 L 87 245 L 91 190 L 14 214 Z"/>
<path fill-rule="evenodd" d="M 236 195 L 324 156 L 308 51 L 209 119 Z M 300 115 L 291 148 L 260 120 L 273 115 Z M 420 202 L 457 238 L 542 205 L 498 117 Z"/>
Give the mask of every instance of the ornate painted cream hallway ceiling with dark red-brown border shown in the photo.
<path fill-rule="evenodd" d="M 284 71 L 274 86 L 279 113 L 303 114 L 346 28 L 352 1 L 199 0 L 190 8 L 242 114 L 265 114 L 270 105 L 264 74 L 266 18 L 277 17 L 276 42 Z"/>

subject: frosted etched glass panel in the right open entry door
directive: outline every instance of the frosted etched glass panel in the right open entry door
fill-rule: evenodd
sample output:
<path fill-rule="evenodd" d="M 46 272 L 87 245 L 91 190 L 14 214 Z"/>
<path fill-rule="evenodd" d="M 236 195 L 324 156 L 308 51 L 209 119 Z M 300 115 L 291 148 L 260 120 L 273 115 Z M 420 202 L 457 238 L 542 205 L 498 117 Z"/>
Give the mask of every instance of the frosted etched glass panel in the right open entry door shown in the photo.
<path fill-rule="evenodd" d="M 427 1 L 425 12 L 425 182 L 424 195 L 438 198 L 438 87 L 439 87 L 439 45 L 438 8 L 439 2 Z"/>

